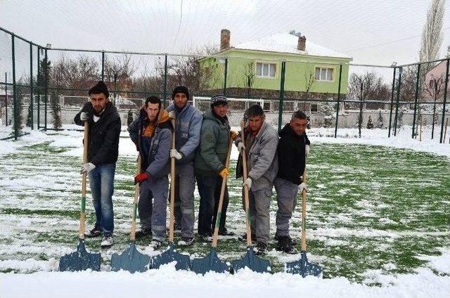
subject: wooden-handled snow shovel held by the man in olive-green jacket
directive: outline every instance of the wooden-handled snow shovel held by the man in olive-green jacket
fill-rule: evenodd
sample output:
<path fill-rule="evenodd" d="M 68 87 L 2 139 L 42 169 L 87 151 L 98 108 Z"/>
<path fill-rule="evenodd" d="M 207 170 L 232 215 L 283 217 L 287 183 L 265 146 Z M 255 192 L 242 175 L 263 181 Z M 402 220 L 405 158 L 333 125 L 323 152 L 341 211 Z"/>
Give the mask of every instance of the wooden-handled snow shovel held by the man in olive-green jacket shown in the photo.
<path fill-rule="evenodd" d="M 230 155 L 231 155 L 231 145 L 233 145 L 233 140 L 230 138 L 229 140 L 228 153 L 226 155 L 225 167 L 228 168 L 230 164 Z M 217 238 L 219 238 L 219 224 L 220 217 L 222 212 L 222 205 L 224 203 L 224 195 L 226 188 L 226 176 L 222 179 L 222 186 L 220 190 L 219 197 L 219 207 L 217 207 L 217 217 L 216 217 L 216 226 L 214 228 L 214 235 L 212 235 L 212 245 L 211 251 L 203 258 L 193 259 L 192 261 L 192 271 L 197 274 L 205 274 L 208 271 L 214 271 L 217 273 L 230 272 L 231 267 L 227 265 L 224 261 L 221 261 L 217 256 Z"/>

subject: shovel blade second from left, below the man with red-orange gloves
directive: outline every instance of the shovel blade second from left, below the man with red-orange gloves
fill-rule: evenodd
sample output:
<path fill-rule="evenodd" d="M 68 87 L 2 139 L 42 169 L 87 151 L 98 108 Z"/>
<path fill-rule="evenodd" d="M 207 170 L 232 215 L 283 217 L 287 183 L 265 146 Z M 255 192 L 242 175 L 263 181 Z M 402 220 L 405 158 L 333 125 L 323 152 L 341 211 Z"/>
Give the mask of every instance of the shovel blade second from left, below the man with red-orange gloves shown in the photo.
<path fill-rule="evenodd" d="M 113 254 L 111 256 L 112 271 L 124 270 L 135 273 L 147 271 L 149 267 L 150 256 L 139 252 L 134 242 L 131 242 L 127 250 L 122 252 L 122 254 Z"/>

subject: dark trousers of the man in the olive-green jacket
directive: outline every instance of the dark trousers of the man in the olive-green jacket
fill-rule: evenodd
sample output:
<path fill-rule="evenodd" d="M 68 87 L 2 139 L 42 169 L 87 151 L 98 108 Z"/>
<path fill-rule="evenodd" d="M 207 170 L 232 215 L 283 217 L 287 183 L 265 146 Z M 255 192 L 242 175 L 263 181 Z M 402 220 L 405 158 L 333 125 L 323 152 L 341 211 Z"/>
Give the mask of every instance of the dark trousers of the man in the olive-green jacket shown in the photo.
<path fill-rule="evenodd" d="M 197 175 L 195 178 L 197 179 L 198 193 L 200 194 L 198 233 L 200 235 L 212 235 L 214 226 L 216 226 L 222 178 L 221 176 L 202 175 Z M 228 186 L 226 186 L 220 216 L 219 231 L 225 230 L 226 209 L 228 207 L 228 202 Z"/>

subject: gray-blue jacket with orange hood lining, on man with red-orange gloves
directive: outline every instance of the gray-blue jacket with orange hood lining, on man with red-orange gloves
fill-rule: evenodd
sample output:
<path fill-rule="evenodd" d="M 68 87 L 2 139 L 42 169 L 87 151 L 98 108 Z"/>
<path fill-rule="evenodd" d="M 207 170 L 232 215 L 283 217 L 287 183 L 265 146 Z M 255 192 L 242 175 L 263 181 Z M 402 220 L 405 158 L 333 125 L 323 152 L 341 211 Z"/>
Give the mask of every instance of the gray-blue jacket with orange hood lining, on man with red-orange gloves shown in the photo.
<path fill-rule="evenodd" d="M 143 109 L 139 112 L 139 117 L 134 119 L 129 124 L 128 132 L 142 157 L 141 172 L 147 171 L 150 176 L 154 178 L 160 178 L 167 176 L 170 171 L 169 151 L 170 144 L 172 142 L 172 124 L 168 121 L 167 112 L 161 110 L 160 114 L 165 113 L 165 117 L 162 120 L 161 115 L 158 117 L 158 123 L 151 136 L 150 147 L 144 152 L 142 145 L 143 142 L 143 129 L 148 125 L 146 124 L 147 112 Z M 144 161 L 147 160 L 147 164 Z"/>

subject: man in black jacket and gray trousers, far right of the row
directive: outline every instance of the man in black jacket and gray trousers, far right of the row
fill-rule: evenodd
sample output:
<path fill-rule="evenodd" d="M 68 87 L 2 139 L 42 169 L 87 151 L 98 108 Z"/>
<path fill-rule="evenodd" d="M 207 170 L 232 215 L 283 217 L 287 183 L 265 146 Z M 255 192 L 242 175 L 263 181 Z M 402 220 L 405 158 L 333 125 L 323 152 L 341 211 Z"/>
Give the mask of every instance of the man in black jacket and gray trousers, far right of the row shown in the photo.
<path fill-rule="evenodd" d="M 276 250 L 295 254 L 293 240 L 289 236 L 289 220 L 293 215 L 297 192 L 306 190 L 302 181 L 306 157 L 309 154 L 309 139 L 305 133 L 307 115 L 297 110 L 290 122 L 278 132 L 278 174 L 274 181 L 276 190 Z"/>

